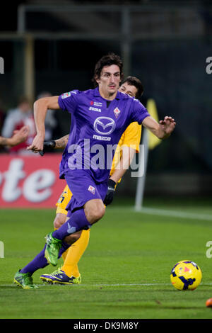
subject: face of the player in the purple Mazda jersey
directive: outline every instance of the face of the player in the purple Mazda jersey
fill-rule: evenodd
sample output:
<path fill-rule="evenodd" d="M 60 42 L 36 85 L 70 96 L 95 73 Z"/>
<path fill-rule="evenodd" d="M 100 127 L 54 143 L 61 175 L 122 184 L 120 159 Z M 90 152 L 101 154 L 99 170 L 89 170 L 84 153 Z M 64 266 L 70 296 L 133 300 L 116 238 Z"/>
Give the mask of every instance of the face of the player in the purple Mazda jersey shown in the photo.
<path fill-rule="evenodd" d="M 104 66 L 100 78 L 96 80 L 99 91 L 104 98 L 113 98 L 117 94 L 120 84 L 120 69 L 116 64 Z"/>

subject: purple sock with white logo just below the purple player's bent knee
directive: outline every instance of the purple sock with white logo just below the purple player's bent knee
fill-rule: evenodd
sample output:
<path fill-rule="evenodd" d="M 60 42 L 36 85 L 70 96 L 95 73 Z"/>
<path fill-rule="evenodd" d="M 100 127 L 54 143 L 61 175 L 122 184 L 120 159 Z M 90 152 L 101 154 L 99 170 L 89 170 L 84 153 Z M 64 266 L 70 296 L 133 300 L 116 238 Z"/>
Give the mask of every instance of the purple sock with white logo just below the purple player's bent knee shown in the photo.
<path fill-rule="evenodd" d="M 62 225 L 58 230 L 55 230 L 52 234 L 54 238 L 64 239 L 66 236 L 73 234 L 79 230 L 88 229 L 91 227 L 88 222 L 84 209 L 79 209 L 73 212 L 64 225 Z"/>

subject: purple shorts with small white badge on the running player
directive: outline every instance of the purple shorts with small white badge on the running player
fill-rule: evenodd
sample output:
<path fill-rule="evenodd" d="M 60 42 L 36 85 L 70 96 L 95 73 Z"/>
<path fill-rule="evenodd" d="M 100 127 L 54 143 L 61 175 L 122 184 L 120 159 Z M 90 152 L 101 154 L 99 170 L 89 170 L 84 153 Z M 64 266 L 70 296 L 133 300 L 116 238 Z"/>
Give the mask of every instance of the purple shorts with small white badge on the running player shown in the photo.
<path fill-rule="evenodd" d="M 65 179 L 72 193 L 66 210 L 73 212 L 93 199 L 104 201 L 107 193 L 107 181 L 96 183 L 86 170 L 72 170 L 65 174 Z"/>

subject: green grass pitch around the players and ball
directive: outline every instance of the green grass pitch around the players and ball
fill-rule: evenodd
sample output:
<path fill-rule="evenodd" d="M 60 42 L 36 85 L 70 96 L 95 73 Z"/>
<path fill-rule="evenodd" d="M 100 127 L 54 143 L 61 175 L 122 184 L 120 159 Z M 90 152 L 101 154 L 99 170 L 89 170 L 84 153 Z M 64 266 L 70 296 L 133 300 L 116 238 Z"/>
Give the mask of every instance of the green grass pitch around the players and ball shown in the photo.
<path fill-rule="evenodd" d="M 81 285 L 42 283 L 39 276 L 54 271 L 47 266 L 33 275 L 37 290 L 18 288 L 13 276 L 43 248 L 55 210 L 1 209 L 0 318 L 211 319 L 212 308 L 206 307 L 212 298 L 209 202 L 157 199 L 145 205 L 149 209 L 143 213 L 119 203 L 107 208 L 79 262 Z M 179 291 L 170 283 L 172 266 L 182 259 L 201 267 L 201 285 L 194 291 Z"/>

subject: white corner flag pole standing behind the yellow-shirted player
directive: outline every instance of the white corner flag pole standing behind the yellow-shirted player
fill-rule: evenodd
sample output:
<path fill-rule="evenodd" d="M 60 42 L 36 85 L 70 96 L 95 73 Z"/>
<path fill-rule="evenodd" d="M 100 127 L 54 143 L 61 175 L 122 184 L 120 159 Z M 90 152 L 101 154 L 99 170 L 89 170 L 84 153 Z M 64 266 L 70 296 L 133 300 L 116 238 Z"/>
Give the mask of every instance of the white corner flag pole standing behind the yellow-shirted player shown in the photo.
<path fill-rule="evenodd" d="M 146 181 L 146 169 L 148 164 L 148 130 L 143 128 L 143 137 L 141 145 L 144 145 L 144 149 L 140 149 L 139 152 L 139 168 L 141 168 L 141 163 L 143 163 L 143 175 L 138 178 L 136 187 L 136 201 L 135 210 L 141 210 L 143 205 L 143 193 Z"/>

